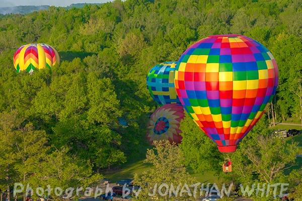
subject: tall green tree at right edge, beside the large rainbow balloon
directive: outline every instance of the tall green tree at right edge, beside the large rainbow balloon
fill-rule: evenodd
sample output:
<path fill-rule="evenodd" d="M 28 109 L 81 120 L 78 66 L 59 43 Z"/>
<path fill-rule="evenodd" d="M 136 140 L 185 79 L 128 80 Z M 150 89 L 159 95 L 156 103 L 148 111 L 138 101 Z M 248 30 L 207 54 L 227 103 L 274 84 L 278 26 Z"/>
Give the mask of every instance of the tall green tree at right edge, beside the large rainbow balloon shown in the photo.
<path fill-rule="evenodd" d="M 279 116 L 282 116 L 282 119 L 294 117 L 300 111 L 299 98 L 293 91 L 298 92 L 299 86 L 295 73 L 298 75 L 301 67 L 300 59 L 296 57 L 302 50 L 301 41 L 295 36 L 283 32 L 273 39 L 270 49 L 279 68 L 277 90 L 277 104 L 281 111 Z"/>

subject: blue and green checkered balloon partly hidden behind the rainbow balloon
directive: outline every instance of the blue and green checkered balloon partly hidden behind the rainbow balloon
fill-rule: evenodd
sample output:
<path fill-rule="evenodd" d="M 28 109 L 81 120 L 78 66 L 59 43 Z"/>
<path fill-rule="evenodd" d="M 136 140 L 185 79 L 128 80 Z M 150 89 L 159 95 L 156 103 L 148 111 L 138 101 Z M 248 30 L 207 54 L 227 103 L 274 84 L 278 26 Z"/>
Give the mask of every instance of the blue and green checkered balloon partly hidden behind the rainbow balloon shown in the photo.
<path fill-rule="evenodd" d="M 154 66 L 147 75 L 147 88 L 160 105 L 180 104 L 174 87 L 176 62 L 164 62 Z"/>

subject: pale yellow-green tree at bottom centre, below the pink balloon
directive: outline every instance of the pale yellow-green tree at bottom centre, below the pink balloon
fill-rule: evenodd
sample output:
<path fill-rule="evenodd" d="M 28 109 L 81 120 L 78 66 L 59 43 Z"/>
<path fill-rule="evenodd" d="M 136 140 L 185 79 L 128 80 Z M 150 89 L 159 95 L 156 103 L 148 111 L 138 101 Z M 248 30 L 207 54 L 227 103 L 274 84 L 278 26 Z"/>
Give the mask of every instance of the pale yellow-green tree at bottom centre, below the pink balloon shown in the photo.
<path fill-rule="evenodd" d="M 184 184 L 192 185 L 196 182 L 195 178 L 189 175 L 184 166 L 185 157 L 180 148 L 176 145 L 170 144 L 169 141 L 155 142 L 154 149 L 148 149 L 146 153 L 145 163 L 153 165 L 152 168 L 142 172 L 142 174 L 134 175 L 133 183 L 142 187 L 136 200 L 149 200 L 148 193 L 153 191 L 154 188 L 159 187 L 162 183 L 168 186 L 174 186 L 175 189 L 178 185 L 180 189 Z M 165 190 L 163 190 L 165 191 Z M 169 195 L 161 196 L 159 191 L 155 191 L 154 197 L 157 200 L 188 200 L 189 195 L 185 194 L 180 196 L 178 192 L 174 196 Z"/>

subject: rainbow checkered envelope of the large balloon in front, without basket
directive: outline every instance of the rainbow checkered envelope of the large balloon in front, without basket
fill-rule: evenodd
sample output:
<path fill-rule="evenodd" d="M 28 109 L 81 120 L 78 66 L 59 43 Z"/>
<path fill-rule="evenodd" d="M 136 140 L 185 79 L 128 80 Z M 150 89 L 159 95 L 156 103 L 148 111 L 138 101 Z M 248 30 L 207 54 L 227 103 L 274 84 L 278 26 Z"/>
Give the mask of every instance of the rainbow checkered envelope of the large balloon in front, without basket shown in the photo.
<path fill-rule="evenodd" d="M 175 72 L 181 104 L 220 152 L 236 151 L 277 85 L 278 67 L 271 52 L 242 35 L 196 42 L 180 57 Z"/>

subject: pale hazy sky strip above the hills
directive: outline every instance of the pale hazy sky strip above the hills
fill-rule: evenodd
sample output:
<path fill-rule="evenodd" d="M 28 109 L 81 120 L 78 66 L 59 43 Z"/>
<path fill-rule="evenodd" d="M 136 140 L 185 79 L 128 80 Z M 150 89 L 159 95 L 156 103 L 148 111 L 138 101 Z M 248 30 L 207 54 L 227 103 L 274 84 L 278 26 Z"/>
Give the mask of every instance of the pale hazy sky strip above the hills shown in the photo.
<path fill-rule="evenodd" d="M 104 3 L 110 0 L 0 0 L 0 7 L 12 6 L 69 6 L 70 4 L 77 3 Z"/>

